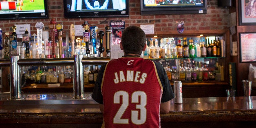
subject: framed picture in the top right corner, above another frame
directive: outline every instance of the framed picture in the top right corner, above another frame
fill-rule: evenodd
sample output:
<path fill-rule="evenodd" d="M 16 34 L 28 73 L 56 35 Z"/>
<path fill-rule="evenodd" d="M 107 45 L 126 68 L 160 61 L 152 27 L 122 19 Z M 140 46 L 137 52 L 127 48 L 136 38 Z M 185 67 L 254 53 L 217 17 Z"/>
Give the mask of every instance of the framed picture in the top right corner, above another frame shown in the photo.
<path fill-rule="evenodd" d="M 256 25 L 256 0 L 238 0 L 239 25 Z"/>

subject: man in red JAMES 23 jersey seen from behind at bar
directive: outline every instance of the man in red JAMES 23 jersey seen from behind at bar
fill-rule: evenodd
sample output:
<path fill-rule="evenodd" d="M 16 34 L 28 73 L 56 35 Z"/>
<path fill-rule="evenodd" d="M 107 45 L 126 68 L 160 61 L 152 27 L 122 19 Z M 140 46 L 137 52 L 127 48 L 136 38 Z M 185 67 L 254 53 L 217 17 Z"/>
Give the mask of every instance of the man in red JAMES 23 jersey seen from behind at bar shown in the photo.
<path fill-rule="evenodd" d="M 119 44 L 124 56 L 100 68 L 92 98 L 103 113 L 103 128 L 160 128 L 160 113 L 170 110 L 174 94 L 163 66 L 140 57 L 145 42 L 139 27 L 127 27 Z"/>

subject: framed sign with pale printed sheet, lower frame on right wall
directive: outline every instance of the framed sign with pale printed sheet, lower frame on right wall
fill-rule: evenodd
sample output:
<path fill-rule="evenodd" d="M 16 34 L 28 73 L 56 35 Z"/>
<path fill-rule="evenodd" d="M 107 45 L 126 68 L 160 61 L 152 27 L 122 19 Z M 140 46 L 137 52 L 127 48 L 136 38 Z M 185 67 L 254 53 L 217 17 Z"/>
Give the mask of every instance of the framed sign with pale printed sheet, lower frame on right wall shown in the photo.
<path fill-rule="evenodd" d="M 239 33 L 240 62 L 256 62 L 256 32 Z"/>

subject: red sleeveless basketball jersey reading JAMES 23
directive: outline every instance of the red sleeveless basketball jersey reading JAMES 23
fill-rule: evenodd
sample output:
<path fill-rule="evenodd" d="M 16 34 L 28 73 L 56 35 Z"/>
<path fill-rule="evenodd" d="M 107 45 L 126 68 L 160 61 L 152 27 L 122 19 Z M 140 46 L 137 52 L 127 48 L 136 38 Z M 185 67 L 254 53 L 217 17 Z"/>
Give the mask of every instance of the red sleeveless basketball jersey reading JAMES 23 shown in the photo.
<path fill-rule="evenodd" d="M 121 57 L 106 65 L 102 79 L 107 128 L 161 127 L 163 87 L 151 60 Z"/>

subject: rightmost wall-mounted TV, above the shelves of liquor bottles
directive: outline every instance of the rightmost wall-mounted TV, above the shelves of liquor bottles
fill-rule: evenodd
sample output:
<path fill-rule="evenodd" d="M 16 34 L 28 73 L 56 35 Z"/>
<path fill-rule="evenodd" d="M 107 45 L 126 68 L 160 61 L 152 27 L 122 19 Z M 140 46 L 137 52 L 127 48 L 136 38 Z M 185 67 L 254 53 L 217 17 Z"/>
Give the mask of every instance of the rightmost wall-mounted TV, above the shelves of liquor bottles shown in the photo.
<path fill-rule="evenodd" d="M 141 15 L 205 14 L 207 0 L 141 0 Z"/>

